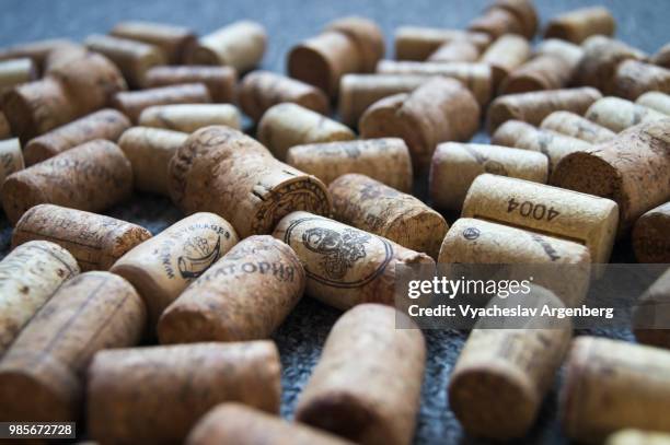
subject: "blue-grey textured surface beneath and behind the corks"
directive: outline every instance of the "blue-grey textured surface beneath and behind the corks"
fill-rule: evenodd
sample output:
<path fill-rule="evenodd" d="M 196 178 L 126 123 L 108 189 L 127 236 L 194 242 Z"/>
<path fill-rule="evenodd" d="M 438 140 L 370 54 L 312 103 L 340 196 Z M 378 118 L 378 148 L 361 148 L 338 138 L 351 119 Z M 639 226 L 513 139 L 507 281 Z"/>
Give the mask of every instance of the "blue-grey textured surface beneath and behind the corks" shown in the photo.
<path fill-rule="evenodd" d="M 596 4 L 580 0 L 535 0 L 542 23 L 559 12 Z M 263 68 L 285 70 L 285 57 L 291 45 L 310 37 L 328 21 L 348 14 L 376 20 L 383 28 L 388 57 L 392 57 L 393 30 L 403 24 L 464 27 L 488 3 L 487 0 L 331 0 L 331 1 L 90 1 L 90 0 L 0 0 L 0 46 L 47 37 L 81 39 L 92 33 L 105 33 L 122 20 L 151 20 L 192 26 L 199 34 L 213 31 L 240 19 L 263 23 L 269 34 L 269 48 Z M 643 50 L 656 51 L 670 40 L 668 20 L 670 0 L 611 0 L 602 2 L 616 17 L 617 37 Z M 484 139 L 482 134 L 477 140 Z M 424 189 L 419 178 L 419 189 Z M 169 199 L 135 196 L 108 214 L 142 224 L 158 233 L 181 218 Z M 453 218 L 448 218 L 453 222 Z M 7 254 L 11 231 L 0 219 L 0 254 Z M 629 258 L 628 241 L 620 242 L 615 258 Z M 284 364 L 282 414 L 290 417 L 297 397 L 319 359 L 321 347 L 339 313 L 311 298 L 303 298 L 275 335 Z M 481 443 L 463 434 L 449 410 L 446 388 L 450 371 L 465 335 L 457 331 L 427 333 L 429 361 L 423 389 L 423 402 L 415 443 Z M 592 333 L 592 332 L 591 332 Z M 629 332 L 596 332 L 631 339 Z M 527 440 L 520 443 L 567 442 L 556 420 L 559 376 L 547 397 L 540 420 Z"/>

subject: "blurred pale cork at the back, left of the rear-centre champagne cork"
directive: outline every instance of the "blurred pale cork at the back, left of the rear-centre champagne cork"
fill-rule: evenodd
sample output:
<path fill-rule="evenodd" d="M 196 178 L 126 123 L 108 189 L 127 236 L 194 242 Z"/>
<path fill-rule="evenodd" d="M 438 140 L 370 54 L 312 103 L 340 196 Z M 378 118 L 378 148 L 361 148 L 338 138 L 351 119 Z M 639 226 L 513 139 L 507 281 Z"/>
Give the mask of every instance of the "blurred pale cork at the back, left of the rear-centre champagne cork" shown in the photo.
<path fill-rule="evenodd" d="M 200 37 L 190 62 L 228 66 L 242 73 L 261 62 L 266 46 L 267 34 L 261 24 L 239 21 Z"/>

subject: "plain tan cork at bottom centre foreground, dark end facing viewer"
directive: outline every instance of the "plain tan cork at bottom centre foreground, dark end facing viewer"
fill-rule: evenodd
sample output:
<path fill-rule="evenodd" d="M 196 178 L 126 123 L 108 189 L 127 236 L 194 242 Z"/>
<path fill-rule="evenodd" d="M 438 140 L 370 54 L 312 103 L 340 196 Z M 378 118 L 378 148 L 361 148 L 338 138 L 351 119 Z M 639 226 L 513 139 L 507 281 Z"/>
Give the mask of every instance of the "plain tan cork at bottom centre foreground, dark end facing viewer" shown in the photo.
<path fill-rule="evenodd" d="M 414 436 L 426 344 L 396 329 L 393 307 L 363 304 L 333 326 L 298 400 L 296 420 L 358 444 L 408 444 Z"/>

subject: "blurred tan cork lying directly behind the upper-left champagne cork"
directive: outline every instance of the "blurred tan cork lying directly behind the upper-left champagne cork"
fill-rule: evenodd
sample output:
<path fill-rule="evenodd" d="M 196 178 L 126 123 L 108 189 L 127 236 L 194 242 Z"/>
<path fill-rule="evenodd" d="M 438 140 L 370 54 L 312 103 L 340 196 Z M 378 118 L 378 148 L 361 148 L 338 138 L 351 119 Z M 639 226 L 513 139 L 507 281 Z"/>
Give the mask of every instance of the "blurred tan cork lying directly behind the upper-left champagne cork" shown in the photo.
<path fill-rule="evenodd" d="M 147 70 L 168 61 L 157 46 L 127 38 L 94 34 L 84 39 L 84 45 L 112 60 L 130 87 L 142 86 Z"/>

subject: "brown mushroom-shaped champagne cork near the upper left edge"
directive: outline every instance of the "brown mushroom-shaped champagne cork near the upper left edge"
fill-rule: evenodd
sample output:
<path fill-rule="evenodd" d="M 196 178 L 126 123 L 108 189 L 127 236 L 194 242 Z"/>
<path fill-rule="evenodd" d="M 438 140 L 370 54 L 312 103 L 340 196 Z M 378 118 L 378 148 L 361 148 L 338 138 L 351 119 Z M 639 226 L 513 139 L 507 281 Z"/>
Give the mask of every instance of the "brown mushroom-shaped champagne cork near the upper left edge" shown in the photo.
<path fill-rule="evenodd" d="M 124 78 L 109 60 L 86 52 L 38 81 L 5 92 L 1 105 L 12 132 L 27 142 L 107 106 L 125 89 Z"/>

